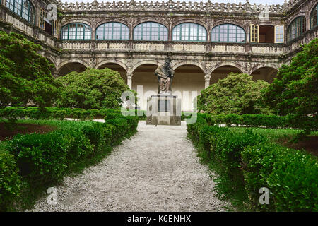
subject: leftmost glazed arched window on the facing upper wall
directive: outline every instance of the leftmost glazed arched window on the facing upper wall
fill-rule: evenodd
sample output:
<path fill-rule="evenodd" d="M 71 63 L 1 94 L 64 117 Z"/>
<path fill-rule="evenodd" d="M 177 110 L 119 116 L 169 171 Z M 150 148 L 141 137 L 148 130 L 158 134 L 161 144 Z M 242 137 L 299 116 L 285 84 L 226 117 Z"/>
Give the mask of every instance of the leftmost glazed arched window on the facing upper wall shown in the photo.
<path fill-rule="evenodd" d="M 90 40 L 92 29 L 85 23 L 69 23 L 61 28 L 62 40 Z"/>

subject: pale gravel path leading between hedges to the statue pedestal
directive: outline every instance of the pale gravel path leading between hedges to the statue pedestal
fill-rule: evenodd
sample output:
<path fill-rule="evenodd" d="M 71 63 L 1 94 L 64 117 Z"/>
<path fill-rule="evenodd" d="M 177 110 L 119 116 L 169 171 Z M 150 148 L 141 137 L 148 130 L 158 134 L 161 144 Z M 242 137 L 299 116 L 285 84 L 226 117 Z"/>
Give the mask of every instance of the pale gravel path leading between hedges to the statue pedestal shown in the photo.
<path fill-rule="evenodd" d="M 183 122 L 182 122 L 183 123 Z M 187 127 L 146 126 L 98 165 L 56 186 L 58 203 L 28 211 L 224 211 L 208 167 L 199 163 Z"/>

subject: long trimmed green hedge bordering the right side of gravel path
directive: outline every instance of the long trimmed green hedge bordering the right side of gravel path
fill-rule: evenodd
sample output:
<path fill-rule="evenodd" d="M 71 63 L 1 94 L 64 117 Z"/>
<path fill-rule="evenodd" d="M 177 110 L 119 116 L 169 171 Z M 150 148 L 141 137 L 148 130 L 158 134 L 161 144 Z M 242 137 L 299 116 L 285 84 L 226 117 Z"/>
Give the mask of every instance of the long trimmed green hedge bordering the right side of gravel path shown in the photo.
<path fill-rule="evenodd" d="M 199 114 L 187 131 L 201 159 L 220 175 L 221 196 L 240 194 L 253 210 L 318 210 L 317 157 L 271 143 L 252 129 L 209 126 L 209 120 Z M 261 187 L 270 191 L 269 205 L 259 204 Z"/>

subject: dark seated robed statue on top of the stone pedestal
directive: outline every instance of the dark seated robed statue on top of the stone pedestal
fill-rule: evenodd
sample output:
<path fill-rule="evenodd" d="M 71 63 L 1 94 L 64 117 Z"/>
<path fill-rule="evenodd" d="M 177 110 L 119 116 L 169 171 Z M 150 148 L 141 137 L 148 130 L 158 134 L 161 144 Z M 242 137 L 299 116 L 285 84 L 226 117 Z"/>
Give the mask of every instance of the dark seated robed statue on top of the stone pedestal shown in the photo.
<path fill-rule="evenodd" d="M 170 57 L 165 58 L 165 64 L 159 64 L 155 69 L 155 76 L 158 76 L 158 95 L 171 95 L 172 77 L 175 71 L 172 70 Z"/>

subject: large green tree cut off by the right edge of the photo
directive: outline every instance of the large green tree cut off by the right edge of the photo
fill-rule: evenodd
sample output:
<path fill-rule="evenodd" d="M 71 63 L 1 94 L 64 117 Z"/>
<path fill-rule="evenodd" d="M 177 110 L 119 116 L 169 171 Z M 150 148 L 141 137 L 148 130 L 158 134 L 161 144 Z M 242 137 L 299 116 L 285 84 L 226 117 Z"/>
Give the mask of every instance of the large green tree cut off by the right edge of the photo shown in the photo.
<path fill-rule="evenodd" d="M 277 78 L 264 90 L 267 105 L 280 115 L 288 115 L 305 132 L 318 129 L 318 39 L 305 44 L 302 51 L 283 65 Z M 308 119 L 315 121 L 307 123 Z"/>

